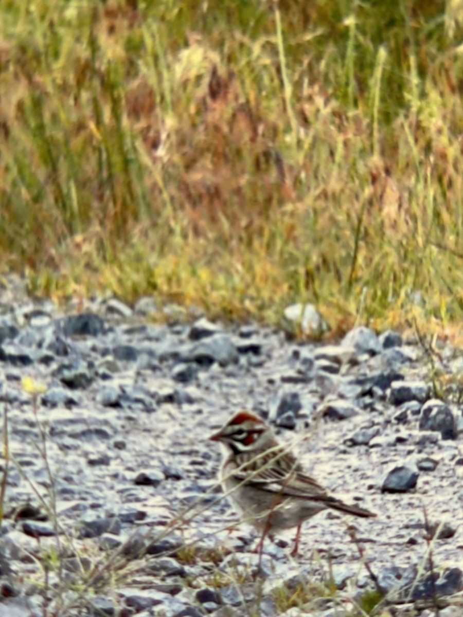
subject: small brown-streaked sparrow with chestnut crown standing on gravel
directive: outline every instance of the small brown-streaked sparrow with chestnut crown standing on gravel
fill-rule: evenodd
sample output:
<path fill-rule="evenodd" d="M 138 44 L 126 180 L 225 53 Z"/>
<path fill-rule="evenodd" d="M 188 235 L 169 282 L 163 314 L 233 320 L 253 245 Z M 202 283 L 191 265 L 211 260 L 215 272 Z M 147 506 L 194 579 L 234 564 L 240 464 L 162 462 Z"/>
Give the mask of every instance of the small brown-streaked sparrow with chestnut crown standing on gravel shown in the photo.
<path fill-rule="evenodd" d="M 248 412 L 236 413 L 210 437 L 223 449 L 220 482 L 246 522 L 262 532 L 259 565 L 267 534 L 297 526 L 291 556 L 298 554 L 302 523 L 327 508 L 355 516 L 376 516 L 329 495 L 304 473 L 301 464 L 279 444 L 272 429 Z"/>

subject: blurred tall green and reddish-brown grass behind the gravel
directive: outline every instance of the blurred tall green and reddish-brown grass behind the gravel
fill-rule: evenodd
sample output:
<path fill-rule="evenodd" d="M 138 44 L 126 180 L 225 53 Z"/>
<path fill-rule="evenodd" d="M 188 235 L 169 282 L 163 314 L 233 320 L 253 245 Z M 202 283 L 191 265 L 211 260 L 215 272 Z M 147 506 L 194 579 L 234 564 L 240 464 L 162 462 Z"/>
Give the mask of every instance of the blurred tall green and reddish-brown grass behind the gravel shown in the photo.
<path fill-rule="evenodd" d="M 457 331 L 463 0 L 0 0 L 0 263 L 34 294 Z"/>

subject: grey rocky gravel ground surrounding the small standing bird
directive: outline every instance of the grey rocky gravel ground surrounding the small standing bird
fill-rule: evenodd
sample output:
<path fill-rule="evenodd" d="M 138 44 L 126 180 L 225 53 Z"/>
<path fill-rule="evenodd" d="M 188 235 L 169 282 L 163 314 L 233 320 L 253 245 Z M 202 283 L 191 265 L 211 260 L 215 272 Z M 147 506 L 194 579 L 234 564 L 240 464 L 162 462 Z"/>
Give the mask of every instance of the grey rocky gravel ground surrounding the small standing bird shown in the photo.
<path fill-rule="evenodd" d="M 463 418 L 449 402 L 461 350 L 431 362 L 394 332 L 297 344 L 204 318 L 152 325 L 154 310 L 113 299 L 64 315 L 4 292 L 0 617 L 362 615 L 374 596 L 364 561 L 390 600 L 377 615 L 434 615 L 433 597 L 451 604 L 441 616 L 463 614 Z M 254 580 L 256 533 L 221 497 L 207 440 L 241 408 L 378 517 L 317 515 L 297 560 L 293 531 L 266 540 Z"/>

